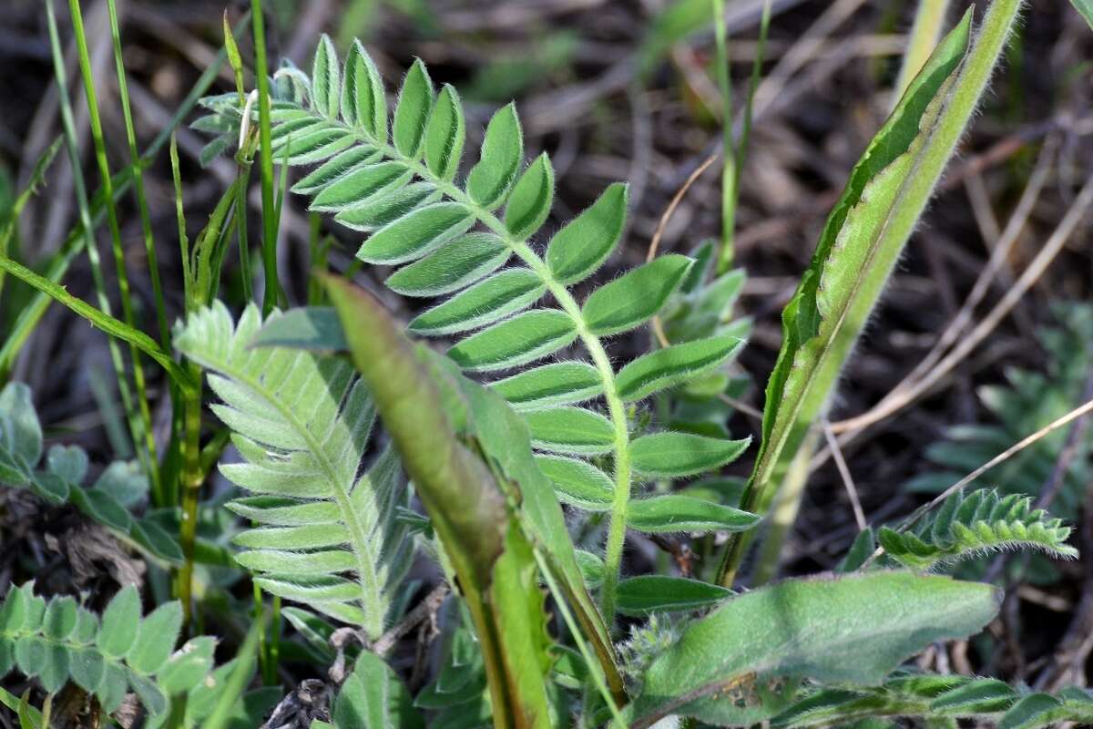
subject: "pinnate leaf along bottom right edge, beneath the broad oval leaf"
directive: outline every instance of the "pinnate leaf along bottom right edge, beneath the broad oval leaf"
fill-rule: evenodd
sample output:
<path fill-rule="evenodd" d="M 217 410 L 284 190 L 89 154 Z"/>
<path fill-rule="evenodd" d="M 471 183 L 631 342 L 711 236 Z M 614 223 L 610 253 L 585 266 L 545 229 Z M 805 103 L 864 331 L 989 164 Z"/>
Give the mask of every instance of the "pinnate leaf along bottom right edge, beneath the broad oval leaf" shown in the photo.
<path fill-rule="evenodd" d="M 884 716 L 977 719 L 999 729 L 1038 729 L 1063 721 L 1090 722 L 1093 693 L 1067 687 L 1053 696 L 1019 691 L 996 679 L 901 672 L 877 687 L 813 689 L 771 724 L 826 727 Z"/>

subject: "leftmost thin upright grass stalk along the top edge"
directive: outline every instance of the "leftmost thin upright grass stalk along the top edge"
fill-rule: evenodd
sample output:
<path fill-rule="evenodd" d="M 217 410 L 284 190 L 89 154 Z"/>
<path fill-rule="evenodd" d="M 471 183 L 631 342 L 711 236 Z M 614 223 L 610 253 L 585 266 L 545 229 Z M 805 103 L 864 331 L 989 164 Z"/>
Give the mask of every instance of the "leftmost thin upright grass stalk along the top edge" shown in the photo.
<path fill-rule="evenodd" d="M 103 264 L 98 257 L 98 246 L 95 243 L 94 228 L 91 224 L 90 204 L 87 201 L 87 187 L 83 176 L 83 165 L 80 160 L 80 151 L 77 145 L 75 121 L 72 116 L 72 103 L 68 95 L 68 73 L 64 70 L 64 55 L 61 50 L 60 35 L 57 32 L 57 14 L 54 10 L 52 0 L 46 1 L 46 21 L 49 27 L 49 43 L 52 51 L 54 75 L 57 80 L 57 97 L 61 111 L 61 127 L 64 130 L 64 141 L 68 150 L 69 162 L 72 166 L 72 188 L 75 191 L 77 210 L 80 216 L 80 227 L 83 238 L 83 248 L 87 251 L 87 260 L 91 263 L 91 278 L 95 285 L 95 295 L 98 299 L 98 307 L 107 315 L 113 316 L 110 298 L 106 293 L 106 282 L 103 278 Z M 140 443 L 140 427 L 133 411 L 132 392 L 129 389 L 129 380 L 126 377 L 126 365 L 121 357 L 121 348 L 111 337 L 106 338 L 106 345 L 110 353 L 110 363 L 114 365 L 114 373 L 117 377 L 118 396 L 121 398 L 121 407 L 126 413 L 126 421 L 129 425 L 130 437 L 133 444 Z M 137 451 L 140 452 L 139 445 Z"/>

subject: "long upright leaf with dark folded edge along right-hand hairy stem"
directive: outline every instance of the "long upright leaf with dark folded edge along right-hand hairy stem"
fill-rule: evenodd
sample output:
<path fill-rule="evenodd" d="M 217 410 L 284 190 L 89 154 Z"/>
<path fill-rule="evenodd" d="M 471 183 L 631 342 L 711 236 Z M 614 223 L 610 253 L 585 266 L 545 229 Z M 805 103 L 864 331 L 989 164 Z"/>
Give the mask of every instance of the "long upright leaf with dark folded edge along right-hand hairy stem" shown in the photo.
<path fill-rule="evenodd" d="M 969 98 L 960 96 L 965 83 L 977 83 L 961 72 L 968 68 L 963 61 L 971 22 L 969 10 L 938 45 L 855 165 L 783 311 L 783 346 L 766 388 L 763 439 L 744 495 L 747 509 L 765 507 L 767 486 L 777 483 L 826 408 L 838 372 L 974 108 L 982 85 L 964 92 Z M 743 544 L 742 539 L 733 540 L 720 571 L 722 584 L 731 580 Z"/>

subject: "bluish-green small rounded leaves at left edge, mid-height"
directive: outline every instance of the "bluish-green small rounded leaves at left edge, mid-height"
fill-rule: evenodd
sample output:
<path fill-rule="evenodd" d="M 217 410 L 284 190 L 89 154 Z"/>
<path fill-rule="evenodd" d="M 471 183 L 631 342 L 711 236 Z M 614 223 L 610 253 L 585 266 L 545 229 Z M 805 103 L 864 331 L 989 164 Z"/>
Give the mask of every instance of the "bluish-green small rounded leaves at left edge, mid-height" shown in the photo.
<path fill-rule="evenodd" d="M 49 448 L 45 468 L 42 424 L 22 383 L 9 383 L 0 390 L 0 484 L 25 487 L 47 504 L 72 504 L 84 516 L 106 527 L 115 536 L 156 558 L 180 563 L 178 543 L 154 518 L 130 513 L 148 492 L 148 482 L 136 465 L 115 462 L 89 489 L 81 484 L 87 474 L 87 454 L 79 446 Z"/>

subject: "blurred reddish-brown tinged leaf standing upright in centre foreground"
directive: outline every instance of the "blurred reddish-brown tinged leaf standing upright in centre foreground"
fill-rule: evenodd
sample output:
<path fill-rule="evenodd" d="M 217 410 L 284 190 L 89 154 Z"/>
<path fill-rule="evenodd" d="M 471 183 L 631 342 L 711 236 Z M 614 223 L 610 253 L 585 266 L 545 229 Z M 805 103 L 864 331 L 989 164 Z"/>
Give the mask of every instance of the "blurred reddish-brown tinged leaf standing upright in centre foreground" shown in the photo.
<path fill-rule="evenodd" d="M 435 368 L 420 358 L 427 355 L 414 351 L 369 294 L 333 277 L 325 283 L 353 364 L 373 390 L 384 426 L 459 577 L 491 667 L 495 726 L 516 726 L 519 717 L 528 727 L 548 729 L 546 614 L 534 556 L 491 470 L 456 438 L 451 415 L 466 418 L 458 412 L 458 396 L 450 384 L 437 381 Z M 430 437 L 422 438 L 423 433 Z"/>

